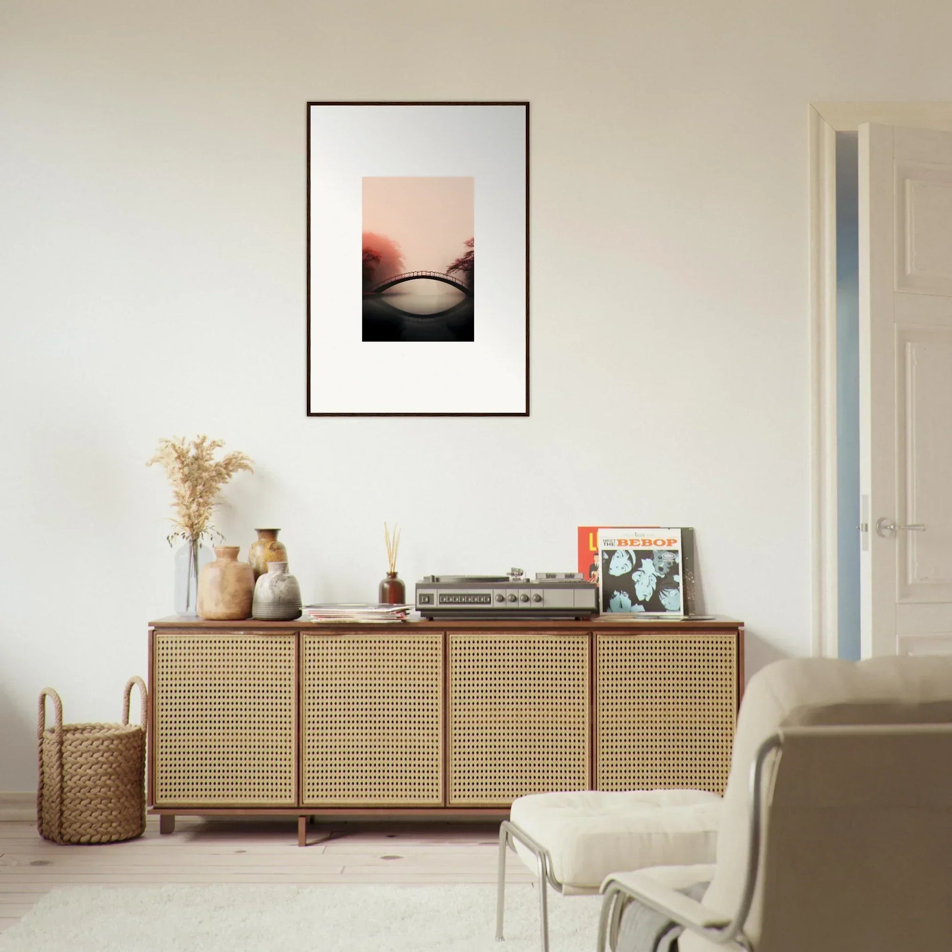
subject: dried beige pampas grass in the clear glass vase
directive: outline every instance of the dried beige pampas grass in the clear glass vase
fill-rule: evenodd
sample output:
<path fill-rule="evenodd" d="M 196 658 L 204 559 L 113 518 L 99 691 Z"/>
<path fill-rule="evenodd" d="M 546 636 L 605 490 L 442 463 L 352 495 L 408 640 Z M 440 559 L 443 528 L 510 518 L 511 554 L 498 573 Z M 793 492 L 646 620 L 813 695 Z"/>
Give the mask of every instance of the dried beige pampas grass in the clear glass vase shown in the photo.
<path fill-rule="evenodd" d="M 216 460 L 215 451 L 222 446 L 225 444 L 221 440 L 209 440 L 207 436 L 197 436 L 190 442 L 181 436 L 160 440 L 155 455 L 146 464 L 163 466 L 172 486 L 175 516 L 171 523 L 175 530 L 168 537 L 169 545 L 173 539 L 197 542 L 203 536 L 210 537 L 216 531 L 211 525 L 211 513 L 221 502 L 222 486 L 235 473 L 254 472 L 251 459 L 244 453 L 232 452 Z"/>

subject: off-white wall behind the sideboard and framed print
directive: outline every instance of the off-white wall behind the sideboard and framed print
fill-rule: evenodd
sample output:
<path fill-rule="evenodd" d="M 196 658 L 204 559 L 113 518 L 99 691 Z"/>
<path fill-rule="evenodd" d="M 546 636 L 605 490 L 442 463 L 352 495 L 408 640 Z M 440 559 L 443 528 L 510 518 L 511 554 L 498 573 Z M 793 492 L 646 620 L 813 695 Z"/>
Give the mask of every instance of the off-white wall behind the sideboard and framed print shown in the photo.
<path fill-rule="evenodd" d="M 930 13 L 931 15 L 917 14 Z M 4 0 L 0 790 L 167 614 L 160 436 L 257 462 L 309 599 L 697 527 L 748 666 L 808 651 L 806 104 L 948 98 L 939 4 Z M 305 417 L 307 99 L 532 103 L 532 416 Z"/>

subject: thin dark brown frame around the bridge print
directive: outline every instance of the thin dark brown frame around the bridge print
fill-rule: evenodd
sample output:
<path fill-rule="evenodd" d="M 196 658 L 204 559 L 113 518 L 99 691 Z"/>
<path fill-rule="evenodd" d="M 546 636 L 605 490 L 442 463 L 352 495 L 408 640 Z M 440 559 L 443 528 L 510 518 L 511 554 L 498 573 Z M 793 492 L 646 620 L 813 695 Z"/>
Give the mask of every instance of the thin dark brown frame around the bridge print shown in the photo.
<path fill-rule="evenodd" d="M 512 410 L 512 411 L 497 411 L 497 412 L 478 412 L 478 411 L 469 411 L 469 412 L 389 412 L 389 411 L 374 411 L 374 412 L 345 412 L 345 411 L 335 411 L 329 412 L 326 410 L 315 410 L 310 406 L 310 322 L 311 322 L 311 305 L 310 305 L 310 111 L 312 106 L 522 106 L 526 109 L 526 409 L 525 410 Z M 307 140 L 307 149 L 306 149 L 306 176 L 307 176 L 307 189 L 306 189 L 306 228 L 307 228 L 307 259 L 306 259 L 306 273 L 307 273 L 307 288 L 306 288 L 306 306 L 307 306 L 307 335 L 305 346 L 307 348 L 307 380 L 306 380 L 306 407 L 307 407 L 307 416 L 308 417 L 527 417 L 529 415 L 529 103 L 522 100 L 466 100 L 466 101 L 431 101 L 431 100 L 414 100 L 414 101 L 401 101 L 401 102 L 378 102 L 372 100 L 311 100 L 307 102 L 306 106 L 306 140 Z"/>

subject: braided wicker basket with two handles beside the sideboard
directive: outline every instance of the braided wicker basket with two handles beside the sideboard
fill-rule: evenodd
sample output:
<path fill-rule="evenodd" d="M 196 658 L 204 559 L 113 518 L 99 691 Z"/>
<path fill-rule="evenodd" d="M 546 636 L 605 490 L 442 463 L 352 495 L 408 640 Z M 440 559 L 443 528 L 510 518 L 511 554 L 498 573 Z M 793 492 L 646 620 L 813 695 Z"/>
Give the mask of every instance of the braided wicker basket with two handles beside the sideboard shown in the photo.
<path fill-rule="evenodd" d="M 129 724 L 129 696 L 139 685 L 142 724 Z M 46 699 L 56 724 L 47 727 Z M 129 678 L 122 724 L 63 724 L 63 703 L 40 692 L 40 779 L 36 828 L 55 843 L 115 843 L 146 829 L 146 684 Z"/>

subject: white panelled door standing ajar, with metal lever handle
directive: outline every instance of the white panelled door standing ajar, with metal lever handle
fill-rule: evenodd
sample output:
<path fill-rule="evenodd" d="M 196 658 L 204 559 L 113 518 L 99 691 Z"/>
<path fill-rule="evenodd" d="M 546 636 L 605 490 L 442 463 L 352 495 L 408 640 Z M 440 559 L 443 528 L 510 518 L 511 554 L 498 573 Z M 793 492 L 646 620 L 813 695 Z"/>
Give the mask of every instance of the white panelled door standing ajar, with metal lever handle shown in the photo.
<path fill-rule="evenodd" d="M 952 132 L 860 127 L 863 657 L 952 651 Z"/>

